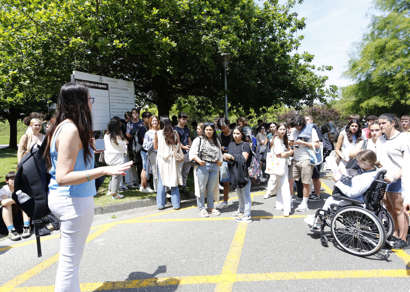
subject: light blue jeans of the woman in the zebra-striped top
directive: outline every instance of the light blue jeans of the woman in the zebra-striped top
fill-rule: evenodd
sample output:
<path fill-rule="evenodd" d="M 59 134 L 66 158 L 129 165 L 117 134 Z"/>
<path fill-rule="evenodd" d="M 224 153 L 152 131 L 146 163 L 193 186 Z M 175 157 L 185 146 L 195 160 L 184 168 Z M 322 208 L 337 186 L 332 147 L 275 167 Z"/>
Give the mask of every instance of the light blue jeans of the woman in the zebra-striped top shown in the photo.
<path fill-rule="evenodd" d="M 207 207 L 214 207 L 214 189 L 218 182 L 218 166 L 216 163 L 206 162 L 204 166 L 196 168 L 199 182 L 199 197 L 196 197 L 198 209 L 205 209 L 205 190 L 207 192 Z"/>

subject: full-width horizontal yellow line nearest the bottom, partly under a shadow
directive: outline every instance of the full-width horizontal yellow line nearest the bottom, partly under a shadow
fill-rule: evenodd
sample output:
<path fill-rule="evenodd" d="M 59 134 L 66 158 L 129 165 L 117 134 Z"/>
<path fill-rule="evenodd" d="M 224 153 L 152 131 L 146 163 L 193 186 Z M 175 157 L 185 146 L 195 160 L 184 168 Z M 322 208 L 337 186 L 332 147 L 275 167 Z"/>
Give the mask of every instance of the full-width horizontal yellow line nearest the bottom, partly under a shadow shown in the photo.
<path fill-rule="evenodd" d="M 255 274 L 237 274 L 235 282 L 291 281 L 310 279 L 364 279 L 364 278 L 405 278 L 410 277 L 405 269 L 398 270 L 327 270 L 301 272 L 273 272 Z M 127 281 L 105 281 L 96 283 L 81 283 L 81 291 L 104 291 L 158 287 L 169 285 L 214 284 L 219 285 L 223 275 L 182 276 L 169 278 L 150 278 Z M 11 291 L 11 290 L 0 290 Z M 32 286 L 15 288 L 15 292 L 52 292 L 54 286 Z M 227 291 L 227 290 L 222 290 Z M 228 290 L 230 291 L 230 290 Z"/>

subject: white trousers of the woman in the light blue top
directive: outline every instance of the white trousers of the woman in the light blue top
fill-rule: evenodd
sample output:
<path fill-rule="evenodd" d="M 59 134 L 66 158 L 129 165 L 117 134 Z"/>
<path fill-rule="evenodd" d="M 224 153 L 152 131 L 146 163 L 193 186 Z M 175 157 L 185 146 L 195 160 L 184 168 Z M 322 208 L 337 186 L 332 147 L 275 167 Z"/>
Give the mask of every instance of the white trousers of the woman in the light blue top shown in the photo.
<path fill-rule="evenodd" d="M 60 258 L 55 291 L 80 292 L 78 268 L 94 217 L 94 197 L 48 195 L 48 207 L 60 223 Z"/>

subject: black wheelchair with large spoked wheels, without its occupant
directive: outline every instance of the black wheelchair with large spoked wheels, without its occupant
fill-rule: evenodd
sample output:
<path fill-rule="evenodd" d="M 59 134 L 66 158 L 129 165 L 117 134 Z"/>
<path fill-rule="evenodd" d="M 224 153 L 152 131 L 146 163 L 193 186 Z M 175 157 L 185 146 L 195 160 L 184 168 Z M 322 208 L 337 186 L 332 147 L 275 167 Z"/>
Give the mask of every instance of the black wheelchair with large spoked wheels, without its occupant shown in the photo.
<path fill-rule="evenodd" d="M 355 256 L 371 256 L 383 249 L 384 256 L 389 257 L 394 242 L 390 241 L 394 232 L 394 221 L 383 207 L 383 196 L 387 183 L 383 181 L 386 171 L 379 171 L 369 189 L 364 193 L 364 201 L 348 198 L 335 186 L 332 195 L 336 200 L 350 202 L 347 206 L 331 204 L 330 207 L 316 211 L 314 220 L 321 219 L 321 244 L 328 246 L 324 228 L 330 227 L 335 242 L 347 253 Z M 365 204 L 365 208 L 363 208 Z M 329 223 L 330 222 L 330 223 Z M 312 227 L 313 229 L 313 227 Z"/>

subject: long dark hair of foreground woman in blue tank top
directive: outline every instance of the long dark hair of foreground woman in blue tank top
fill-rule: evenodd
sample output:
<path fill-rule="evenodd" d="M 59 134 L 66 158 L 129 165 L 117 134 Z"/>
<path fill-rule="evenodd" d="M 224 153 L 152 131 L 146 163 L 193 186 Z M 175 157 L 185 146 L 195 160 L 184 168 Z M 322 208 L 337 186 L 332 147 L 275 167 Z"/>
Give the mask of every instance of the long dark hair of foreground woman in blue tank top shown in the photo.
<path fill-rule="evenodd" d="M 51 124 L 47 135 L 47 146 L 43 157 L 46 159 L 47 169 L 51 168 L 50 147 L 52 136 L 59 124 L 65 119 L 70 119 L 77 127 L 80 140 L 84 148 L 84 163 L 91 163 L 93 157 L 90 147 L 95 150 L 92 143 L 93 121 L 91 110 L 88 106 L 88 88 L 84 85 L 69 82 L 62 86 L 55 113 L 55 121 Z"/>

